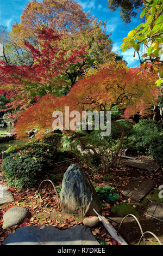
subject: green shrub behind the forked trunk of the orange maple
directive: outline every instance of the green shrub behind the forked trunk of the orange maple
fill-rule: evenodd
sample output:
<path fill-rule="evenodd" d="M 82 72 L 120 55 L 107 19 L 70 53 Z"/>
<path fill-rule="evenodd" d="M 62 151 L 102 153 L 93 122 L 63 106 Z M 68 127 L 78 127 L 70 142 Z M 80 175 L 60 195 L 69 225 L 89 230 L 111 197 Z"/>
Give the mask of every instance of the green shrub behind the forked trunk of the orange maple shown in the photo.
<path fill-rule="evenodd" d="M 128 120 L 118 120 L 116 121 L 124 127 L 126 132 L 126 136 L 124 137 L 124 143 L 122 146 L 122 150 L 128 147 L 128 136 L 130 134 L 133 123 Z M 97 152 L 101 154 L 101 156 L 105 160 L 106 166 L 109 165 L 112 158 L 115 156 L 115 152 L 117 150 L 118 145 L 120 144 L 121 138 L 121 130 L 115 124 L 111 124 L 111 134 L 110 136 L 101 136 L 101 130 L 94 130 L 90 134 L 86 136 L 82 136 L 82 140 L 86 146 L 92 145 Z M 101 168 L 101 160 L 99 157 L 93 154 L 91 151 L 87 150 L 87 154 L 81 153 L 79 150 L 79 140 L 78 138 L 73 140 L 71 150 L 76 154 L 79 160 L 86 165 L 93 166 L 96 169 Z"/>

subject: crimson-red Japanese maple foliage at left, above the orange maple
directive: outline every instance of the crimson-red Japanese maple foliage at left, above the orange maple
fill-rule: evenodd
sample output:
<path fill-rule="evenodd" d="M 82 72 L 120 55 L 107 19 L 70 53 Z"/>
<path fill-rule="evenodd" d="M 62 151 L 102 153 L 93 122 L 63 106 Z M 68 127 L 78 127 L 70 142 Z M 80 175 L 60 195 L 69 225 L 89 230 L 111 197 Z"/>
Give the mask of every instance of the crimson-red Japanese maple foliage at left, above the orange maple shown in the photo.
<path fill-rule="evenodd" d="M 33 65 L 16 66 L 0 62 L 0 87 L 10 95 L 7 108 L 14 110 L 12 120 L 16 121 L 20 112 L 32 106 L 43 95 L 58 93 L 60 87 L 67 86 L 61 76 L 71 63 L 85 58 L 85 47 L 74 51 L 62 49 L 58 46 L 61 38 L 62 35 L 51 28 L 40 29 L 37 31 L 39 47 L 24 42 Z"/>

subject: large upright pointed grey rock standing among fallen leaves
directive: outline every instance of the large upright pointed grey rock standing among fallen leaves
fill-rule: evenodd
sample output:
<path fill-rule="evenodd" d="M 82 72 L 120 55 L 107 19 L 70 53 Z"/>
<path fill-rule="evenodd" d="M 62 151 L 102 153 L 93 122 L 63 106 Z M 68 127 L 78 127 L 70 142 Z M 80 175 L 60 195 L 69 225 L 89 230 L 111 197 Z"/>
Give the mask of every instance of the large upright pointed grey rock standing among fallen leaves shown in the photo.
<path fill-rule="evenodd" d="M 95 188 L 79 165 L 70 165 L 64 174 L 60 205 L 62 211 L 79 216 L 96 216 L 93 208 L 102 210 Z"/>

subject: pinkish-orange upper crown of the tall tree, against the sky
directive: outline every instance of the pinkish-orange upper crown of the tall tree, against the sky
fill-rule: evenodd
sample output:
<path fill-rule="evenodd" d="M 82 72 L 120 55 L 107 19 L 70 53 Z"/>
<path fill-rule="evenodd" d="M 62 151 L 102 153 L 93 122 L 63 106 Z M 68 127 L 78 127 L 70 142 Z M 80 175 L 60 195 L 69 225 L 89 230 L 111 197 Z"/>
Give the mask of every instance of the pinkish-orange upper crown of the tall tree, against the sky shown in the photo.
<path fill-rule="evenodd" d="M 30 38 L 34 43 L 35 31 L 43 26 L 48 25 L 57 33 L 74 33 L 88 23 L 89 14 L 74 0 L 33 0 L 24 8 L 21 22 L 12 25 L 12 40 L 21 45 Z"/>

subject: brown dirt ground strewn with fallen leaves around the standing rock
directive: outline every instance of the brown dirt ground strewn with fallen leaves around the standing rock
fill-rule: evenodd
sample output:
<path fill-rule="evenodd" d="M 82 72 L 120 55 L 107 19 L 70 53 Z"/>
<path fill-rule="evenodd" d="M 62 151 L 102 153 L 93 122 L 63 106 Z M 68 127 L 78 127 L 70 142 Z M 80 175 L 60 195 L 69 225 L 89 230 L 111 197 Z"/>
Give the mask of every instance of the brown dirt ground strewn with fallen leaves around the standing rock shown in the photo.
<path fill-rule="evenodd" d="M 143 158 L 142 158 L 143 159 Z M 110 221 L 115 228 L 118 228 L 122 218 L 130 213 L 134 214 L 140 221 L 143 231 L 152 231 L 159 237 L 163 244 L 163 222 L 156 221 L 155 219 L 147 219 L 144 213 L 151 201 L 157 201 L 163 204 L 163 199 L 158 198 L 158 187 L 163 184 L 162 170 L 149 172 L 145 170 L 139 170 L 124 166 L 127 159 L 121 159 L 120 166 L 112 169 L 108 176 L 104 179 L 102 172 L 86 168 L 86 166 L 79 163 L 77 160 L 58 164 L 55 166 L 53 172 L 53 181 L 55 186 L 61 187 L 61 182 L 65 171 L 72 163 L 82 165 L 83 170 L 89 176 L 94 186 L 111 186 L 115 188 L 115 192 L 119 193 L 119 199 L 116 202 L 103 201 L 102 215 Z M 3 173 L 1 172 L 2 183 L 5 183 Z M 137 203 L 129 198 L 124 197 L 119 191 L 126 186 L 129 182 L 132 182 L 137 177 L 146 178 L 156 182 L 156 186 L 146 195 L 140 203 Z M 74 216 L 65 216 L 59 212 L 57 197 L 51 186 L 51 184 L 43 184 L 40 194 L 36 193 L 37 188 L 18 190 L 17 188 L 9 188 L 14 195 L 15 201 L 9 204 L 0 206 L 0 243 L 17 227 L 23 227 L 24 225 L 53 225 L 59 229 L 67 229 L 73 227 L 73 225 L 82 225 L 82 219 Z M 40 199 L 41 195 L 41 199 Z M 26 207 L 31 216 L 25 219 L 24 223 L 19 226 L 13 227 L 8 230 L 2 230 L 2 217 L 5 211 L 13 206 Z M 162 212 L 163 215 L 163 212 Z M 101 242 L 102 245 L 116 245 L 116 242 L 112 239 L 109 233 L 105 230 L 101 224 L 96 229 L 91 229 L 92 234 Z M 141 237 L 140 229 L 133 218 L 127 218 L 122 224 L 120 234 L 130 245 L 137 245 Z M 147 244 L 156 245 L 156 240 L 147 235 Z M 141 242 L 142 244 L 142 242 Z"/>

